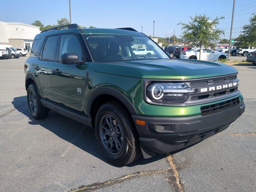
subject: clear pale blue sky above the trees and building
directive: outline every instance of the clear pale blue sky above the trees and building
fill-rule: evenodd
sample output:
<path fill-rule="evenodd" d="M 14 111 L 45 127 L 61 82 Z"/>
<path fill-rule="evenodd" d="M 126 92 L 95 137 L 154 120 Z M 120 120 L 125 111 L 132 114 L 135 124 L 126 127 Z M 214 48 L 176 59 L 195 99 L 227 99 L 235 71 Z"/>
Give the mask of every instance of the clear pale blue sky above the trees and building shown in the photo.
<path fill-rule="evenodd" d="M 8 1 L 5 1 L 8 2 Z M 15 6 L 0 6 L 0 20 L 31 24 L 40 20 L 45 26 L 56 24 L 57 19 L 69 19 L 68 0 L 26 0 Z M 131 27 L 153 36 L 181 35 L 179 22 L 188 23 L 190 16 L 206 14 L 211 18 L 224 16 L 218 28 L 225 30 L 222 38 L 229 39 L 233 0 L 71 0 L 72 23 L 97 28 Z M 234 31 L 237 37 L 252 13 L 256 13 L 256 0 L 236 0 Z"/>

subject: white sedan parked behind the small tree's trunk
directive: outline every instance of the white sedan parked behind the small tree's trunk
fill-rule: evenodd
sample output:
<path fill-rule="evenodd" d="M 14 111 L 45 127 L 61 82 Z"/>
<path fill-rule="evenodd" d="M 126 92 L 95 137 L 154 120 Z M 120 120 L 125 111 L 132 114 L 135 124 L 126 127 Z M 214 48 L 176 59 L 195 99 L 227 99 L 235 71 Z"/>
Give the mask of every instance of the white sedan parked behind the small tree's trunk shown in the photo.
<path fill-rule="evenodd" d="M 200 48 L 193 48 L 191 50 L 186 50 L 186 52 L 181 52 L 181 59 L 195 59 L 199 60 Z M 201 60 L 204 61 L 218 61 L 219 59 L 226 59 L 228 54 L 213 51 L 211 49 L 201 48 Z"/>

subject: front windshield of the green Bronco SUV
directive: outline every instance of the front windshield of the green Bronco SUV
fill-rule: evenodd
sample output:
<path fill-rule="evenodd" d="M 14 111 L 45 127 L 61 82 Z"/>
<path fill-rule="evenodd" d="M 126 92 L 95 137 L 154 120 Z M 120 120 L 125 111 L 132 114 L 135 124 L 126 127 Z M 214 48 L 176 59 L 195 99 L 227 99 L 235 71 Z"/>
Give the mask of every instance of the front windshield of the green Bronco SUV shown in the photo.
<path fill-rule="evenodd" d="M 84 37 L 96 62 L 170 59 L 147 36 L 106 34 Z"/>

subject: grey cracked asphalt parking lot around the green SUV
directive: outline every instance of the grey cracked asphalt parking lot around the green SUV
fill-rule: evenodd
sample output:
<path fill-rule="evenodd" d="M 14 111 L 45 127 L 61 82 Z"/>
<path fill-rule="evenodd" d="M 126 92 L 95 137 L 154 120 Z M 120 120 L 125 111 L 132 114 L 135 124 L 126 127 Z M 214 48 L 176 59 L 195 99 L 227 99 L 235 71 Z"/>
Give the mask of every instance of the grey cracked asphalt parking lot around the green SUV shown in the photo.
<path fill-rule="evenodd" d="M 246 110 L 228 129 L 174 154 L 117 167 L 100 153 L 92 129 L 52 111 L 44 120 L 30 116 L 26 58 L 0 60 L 0 191 L 256 190 L 256 66 L 232 65 Z"/>

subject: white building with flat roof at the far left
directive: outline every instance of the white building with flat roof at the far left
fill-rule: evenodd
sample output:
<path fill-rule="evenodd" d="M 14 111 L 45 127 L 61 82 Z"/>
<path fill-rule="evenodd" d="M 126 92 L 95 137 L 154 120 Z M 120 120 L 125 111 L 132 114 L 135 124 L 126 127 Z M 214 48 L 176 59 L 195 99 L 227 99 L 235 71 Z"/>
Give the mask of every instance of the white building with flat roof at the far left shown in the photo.
<path fill-rule="evenodd" d="M 0 21 L 0 44 L 10 44 L 14 48 L 26 48 L 30 52 L 34 37 L 38 33 L 40 30 L 37 26 Z"/>

